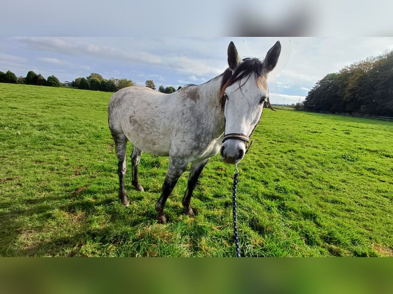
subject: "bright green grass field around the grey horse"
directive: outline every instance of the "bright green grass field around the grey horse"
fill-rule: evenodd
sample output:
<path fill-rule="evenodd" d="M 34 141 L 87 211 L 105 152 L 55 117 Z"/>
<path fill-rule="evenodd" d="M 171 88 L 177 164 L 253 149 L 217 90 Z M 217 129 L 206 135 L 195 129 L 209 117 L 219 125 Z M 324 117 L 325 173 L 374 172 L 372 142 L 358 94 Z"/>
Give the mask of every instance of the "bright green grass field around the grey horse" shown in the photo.
<path fill-rule="evenodd" d="M 117 197 L 111 93 L 0 84 L 0 256 L 235 256 L 233 166 L 214 157 L 182 214 L 188 173 L 155 220 L 168 158 L 143 154 L 144 193 Z M 242 256 L 392 256 L 393 123 L 265 110 L 240 163 Z M 129 144 L 127 162 L 132 145 Z"/>

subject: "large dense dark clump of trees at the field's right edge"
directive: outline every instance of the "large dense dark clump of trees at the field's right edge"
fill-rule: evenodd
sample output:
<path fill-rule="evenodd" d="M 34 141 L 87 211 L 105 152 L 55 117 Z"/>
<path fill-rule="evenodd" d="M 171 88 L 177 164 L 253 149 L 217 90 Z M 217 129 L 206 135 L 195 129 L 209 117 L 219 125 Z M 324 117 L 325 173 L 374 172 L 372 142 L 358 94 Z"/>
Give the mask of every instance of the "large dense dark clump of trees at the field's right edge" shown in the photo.
<path fill-rule="evenodd" d="M 295 110 L 393 117 L 393 50 L 327 74 Z"/>

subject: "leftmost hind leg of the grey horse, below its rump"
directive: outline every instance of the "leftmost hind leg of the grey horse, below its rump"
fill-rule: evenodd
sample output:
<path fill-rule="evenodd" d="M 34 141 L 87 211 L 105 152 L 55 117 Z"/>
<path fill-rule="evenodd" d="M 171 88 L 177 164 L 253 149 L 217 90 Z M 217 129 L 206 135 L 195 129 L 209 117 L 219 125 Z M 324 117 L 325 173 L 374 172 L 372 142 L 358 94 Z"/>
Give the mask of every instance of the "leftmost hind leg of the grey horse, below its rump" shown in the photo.
<path fill-rule="evenodd" d="M 113 134 L 112 137 L 115 143 L 116 156 L 119 160 L 117 164 L 117 175 L 119 175 L 119 198 L 122 200 L 122 204 L 128 206 L 127 192 L 124 187 L 124 178 L 126 176 L 127 165 L 126 165 L 126 152 L 127 152 L 127 138 L 124 134 Z"/>

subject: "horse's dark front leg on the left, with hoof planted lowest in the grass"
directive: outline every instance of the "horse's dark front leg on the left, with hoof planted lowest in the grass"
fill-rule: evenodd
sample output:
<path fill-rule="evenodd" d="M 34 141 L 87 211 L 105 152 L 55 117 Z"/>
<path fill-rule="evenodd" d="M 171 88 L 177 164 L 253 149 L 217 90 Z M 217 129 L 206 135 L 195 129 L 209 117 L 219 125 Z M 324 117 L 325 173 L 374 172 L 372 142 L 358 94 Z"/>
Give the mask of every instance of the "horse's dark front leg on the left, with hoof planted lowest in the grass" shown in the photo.
<path fill-rule="evenodd" d="M 187 169 L 188 163 L 189 162 L 172 158 L 169 160 L 169 167 L 163 184 L 163 191 L 160 199 L 155 204 L 155 211 L 157 212 L 157 220 L 159 221 L 159 223 L 166 223 L 168 221 L 167 217 L 164 214 L 165 202 L 168 199 L 170 193 L 172 192 L 175 184 L 178 182 L 180 176 Z"/>

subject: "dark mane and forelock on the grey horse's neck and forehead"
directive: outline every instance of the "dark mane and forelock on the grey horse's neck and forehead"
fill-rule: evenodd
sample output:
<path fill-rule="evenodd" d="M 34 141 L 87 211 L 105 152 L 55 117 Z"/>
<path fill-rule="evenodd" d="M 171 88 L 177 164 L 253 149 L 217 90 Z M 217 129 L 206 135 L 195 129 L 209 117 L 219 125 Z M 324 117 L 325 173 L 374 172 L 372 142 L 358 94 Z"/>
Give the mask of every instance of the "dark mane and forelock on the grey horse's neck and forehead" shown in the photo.
<path fill-rule="evenodd" d="M 227 87 L 233 85 L 235 82 L 254 74 L 259 81 L 262 77 L 263 62 L 258 58 L 245 58 L 243 62 L 235 69 L 232 74 L 232 70 L 229 68 L 222 74 L 221 86 L 220 86 L 220 106 L 221 110 L 224 111 L 226 98 L 224 97 L 225 90 Z M 239 85 L 241 87 L 242 85 Z"/>

